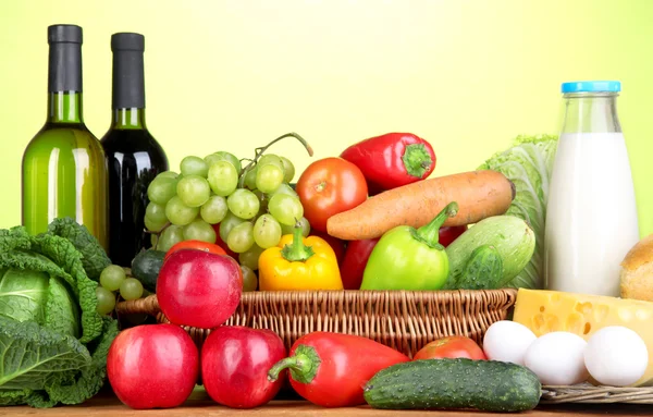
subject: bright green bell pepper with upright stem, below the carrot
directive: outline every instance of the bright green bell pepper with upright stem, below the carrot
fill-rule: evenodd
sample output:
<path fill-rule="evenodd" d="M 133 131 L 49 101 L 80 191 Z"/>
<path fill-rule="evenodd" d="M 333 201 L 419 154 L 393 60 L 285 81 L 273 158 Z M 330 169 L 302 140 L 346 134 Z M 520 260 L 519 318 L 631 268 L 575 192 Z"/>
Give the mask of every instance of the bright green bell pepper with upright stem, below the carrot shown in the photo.
<path fill-rule="evenodd" d="M 453 201 L 424 226 L 387 231 L 370 255 L 360 290 L 440 290 L 448 275 L 448 258 L 438 242 L 440 228 L 457 212 Z"/>

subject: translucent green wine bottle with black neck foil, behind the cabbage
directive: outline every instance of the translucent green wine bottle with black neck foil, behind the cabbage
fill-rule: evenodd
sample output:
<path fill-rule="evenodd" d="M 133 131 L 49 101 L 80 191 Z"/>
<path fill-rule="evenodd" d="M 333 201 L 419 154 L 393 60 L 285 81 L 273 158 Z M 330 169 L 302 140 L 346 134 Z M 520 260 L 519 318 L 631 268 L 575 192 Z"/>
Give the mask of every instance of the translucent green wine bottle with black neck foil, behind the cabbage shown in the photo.
<path fill-rule="evenodd" d="M 107 162 L 83 119 L 82 28 L 49 26 L 48 44 L 48 115 L 23 154 L 23 225 L 37 234 L 70 217 L 107 248 Z"/>

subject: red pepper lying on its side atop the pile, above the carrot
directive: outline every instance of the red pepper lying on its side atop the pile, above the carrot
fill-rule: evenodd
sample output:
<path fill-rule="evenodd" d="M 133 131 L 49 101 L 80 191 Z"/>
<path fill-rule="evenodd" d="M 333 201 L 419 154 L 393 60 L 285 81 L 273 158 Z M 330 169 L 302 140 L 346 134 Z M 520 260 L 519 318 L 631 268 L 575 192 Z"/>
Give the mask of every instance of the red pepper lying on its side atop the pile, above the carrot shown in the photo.
<path fill-rule="evenodd" d="M 387 133 L 349 146 L 341 158 L 357 165 L 369 195 L 423 180 L 435 169 L 435 152 L 411 133 Z"/>

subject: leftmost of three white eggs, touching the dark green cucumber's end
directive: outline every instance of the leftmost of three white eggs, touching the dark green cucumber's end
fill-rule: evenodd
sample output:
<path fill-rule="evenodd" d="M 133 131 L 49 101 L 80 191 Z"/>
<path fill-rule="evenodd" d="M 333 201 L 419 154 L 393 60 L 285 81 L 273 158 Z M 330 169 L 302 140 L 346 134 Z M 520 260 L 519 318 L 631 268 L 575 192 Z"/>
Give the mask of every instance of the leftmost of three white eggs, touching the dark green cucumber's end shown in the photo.
<path fill-rule="evenodd" d="M 485 331 L 483 352 L 491 360 L 523 365 L 523 354 L 538 339 L 526 326 L 515 321 L 496 321 Z"/>

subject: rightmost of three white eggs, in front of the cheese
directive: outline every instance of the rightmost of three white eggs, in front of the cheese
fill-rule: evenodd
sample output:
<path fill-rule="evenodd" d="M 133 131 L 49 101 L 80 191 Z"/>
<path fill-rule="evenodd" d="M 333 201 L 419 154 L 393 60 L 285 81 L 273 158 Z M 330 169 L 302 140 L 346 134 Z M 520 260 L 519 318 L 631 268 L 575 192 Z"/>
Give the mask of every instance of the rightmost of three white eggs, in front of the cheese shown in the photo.
<path fill-rule="evenodd" d="M 609 326 L 590 338 L 584 363 L 599 383 L 625 387 L 644 375 L 649 366 L 649 351 L 634 331 L 623 326 Z"/>

